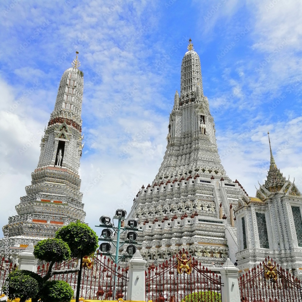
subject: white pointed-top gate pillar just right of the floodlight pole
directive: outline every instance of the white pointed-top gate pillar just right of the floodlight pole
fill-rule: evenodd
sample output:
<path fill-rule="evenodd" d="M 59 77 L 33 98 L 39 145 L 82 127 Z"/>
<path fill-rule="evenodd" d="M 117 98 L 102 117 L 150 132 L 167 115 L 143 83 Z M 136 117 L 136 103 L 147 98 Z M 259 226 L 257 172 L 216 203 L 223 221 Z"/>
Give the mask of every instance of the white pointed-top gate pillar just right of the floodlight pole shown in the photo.
<path fill-rule="evenodd" d="M 147 261 L 143 259 L 139 250 L 135 252 L 129 261 L 129 282 L 127 300 L 146 300 L 145 265 Z"/>

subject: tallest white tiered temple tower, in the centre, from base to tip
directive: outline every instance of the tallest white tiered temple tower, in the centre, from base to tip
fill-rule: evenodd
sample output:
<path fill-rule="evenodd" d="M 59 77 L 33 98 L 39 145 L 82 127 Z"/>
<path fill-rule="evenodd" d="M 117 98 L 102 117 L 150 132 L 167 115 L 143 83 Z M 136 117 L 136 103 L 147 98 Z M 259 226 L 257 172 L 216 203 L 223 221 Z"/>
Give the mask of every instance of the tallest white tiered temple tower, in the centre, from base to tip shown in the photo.
<path fill-rule="evenodd" d="M 182 59 L 180 96 L 169 116 L 167 149 L 152 184 L 142 186 L 129 218 L 140 222 L 141 254 L 162 261 L 185 249 L 205 265 L 235 262 L 233 209 L 248 198 L 221 164 L 214 119 L 204 96 L 201 66 L 191 40 Z"/>

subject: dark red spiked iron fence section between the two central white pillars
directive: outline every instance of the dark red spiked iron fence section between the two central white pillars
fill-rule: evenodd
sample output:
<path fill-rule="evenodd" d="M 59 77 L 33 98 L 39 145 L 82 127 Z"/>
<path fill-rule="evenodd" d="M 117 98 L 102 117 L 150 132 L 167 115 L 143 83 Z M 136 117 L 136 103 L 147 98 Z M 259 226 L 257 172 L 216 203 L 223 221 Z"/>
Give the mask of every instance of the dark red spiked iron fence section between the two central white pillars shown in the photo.
<path fill-rule="evenodd" d="M 220 302 L 221 277 L 184 250 L 146 271 L 146 300 L 153 302 Z"/>

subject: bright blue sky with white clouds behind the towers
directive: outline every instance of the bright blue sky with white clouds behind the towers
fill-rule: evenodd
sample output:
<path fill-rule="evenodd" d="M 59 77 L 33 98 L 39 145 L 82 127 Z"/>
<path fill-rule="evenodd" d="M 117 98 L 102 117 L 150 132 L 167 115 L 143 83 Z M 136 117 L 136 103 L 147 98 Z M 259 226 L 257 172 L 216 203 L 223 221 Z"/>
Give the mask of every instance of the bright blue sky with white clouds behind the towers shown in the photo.
<path fill-rule="evenodd" d="M 302 2 L 4 0 L 0 15 L 1 225 L 31 182 L 76 50 L 89 225 L 118 207 L 129 211 L 158 172 L 190 37 L 227 175 L 255 196 L 269 168 L 270 131 L 278 168 L 302 189 Z"/>

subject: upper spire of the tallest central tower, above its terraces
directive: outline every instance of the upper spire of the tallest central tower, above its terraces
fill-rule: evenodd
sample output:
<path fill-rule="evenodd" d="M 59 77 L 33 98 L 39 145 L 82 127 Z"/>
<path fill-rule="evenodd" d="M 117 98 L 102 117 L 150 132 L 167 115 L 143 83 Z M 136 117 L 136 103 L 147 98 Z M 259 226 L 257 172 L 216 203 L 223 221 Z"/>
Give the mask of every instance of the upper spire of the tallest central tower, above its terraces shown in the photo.
<path fill-rule="evenodd" d="M 179 96 L 176 90 L 174 95 L 167 150 L 156 183 L 197 172 L 209 179 L 215 175 L 219 179 L 221 176 L 229 179 L 219 158 L 214 119 L 202 90 L 200 59 L 192 40 L 188 42 L 181 66 L 181 92 Z"/>

